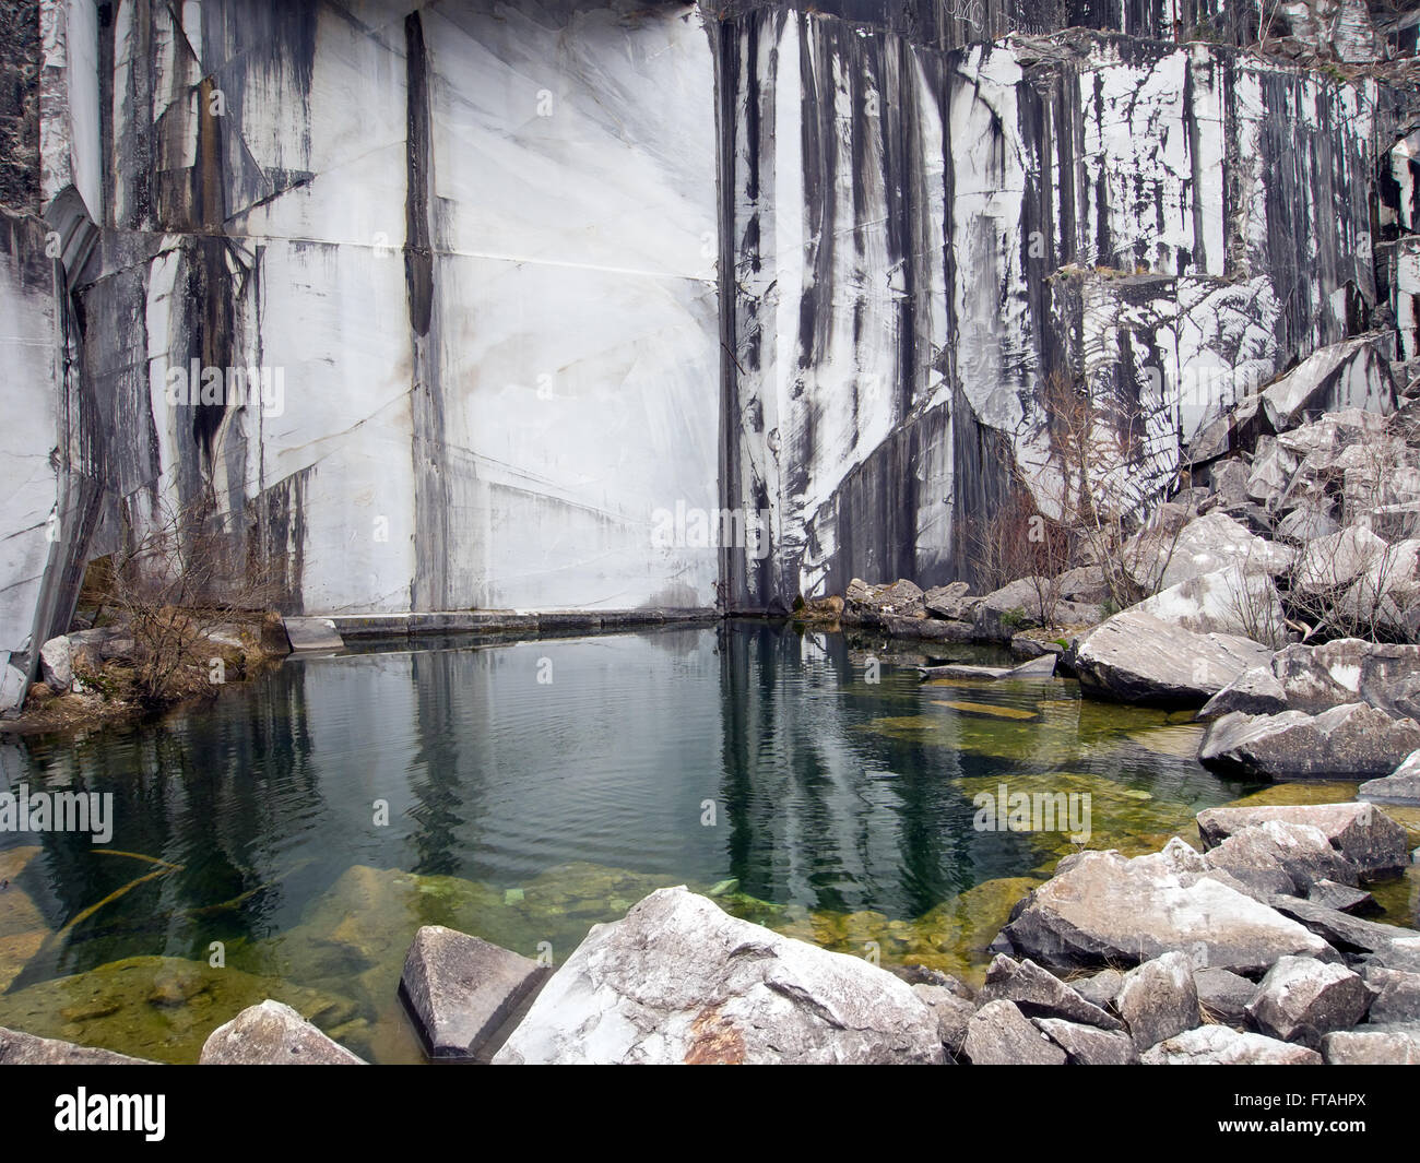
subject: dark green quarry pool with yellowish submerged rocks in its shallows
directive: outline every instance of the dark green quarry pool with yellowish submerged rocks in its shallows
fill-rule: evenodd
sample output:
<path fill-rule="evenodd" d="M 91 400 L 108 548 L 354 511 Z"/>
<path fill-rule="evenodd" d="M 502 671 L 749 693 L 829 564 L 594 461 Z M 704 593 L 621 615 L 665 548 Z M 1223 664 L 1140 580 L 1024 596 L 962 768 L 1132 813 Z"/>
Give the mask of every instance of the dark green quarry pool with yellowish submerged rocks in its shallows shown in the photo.
<path fill-rule="evenodd" d="M 275 997 L 420 1061 L 396 1000 L 420 924 L 559 963 L 676 883 L 978 978 L 1061 855 L 1193 838 L 1255 790 L 1197 764 L 1189 714 L 1061 679 L 920 683 L 912 660 L 765 622 L 376 643 L 159 723 L 0 744 L 0 792 L 112 797 L 106 845 L 0 832 L 0 1025 L 196 1061 Z"/>

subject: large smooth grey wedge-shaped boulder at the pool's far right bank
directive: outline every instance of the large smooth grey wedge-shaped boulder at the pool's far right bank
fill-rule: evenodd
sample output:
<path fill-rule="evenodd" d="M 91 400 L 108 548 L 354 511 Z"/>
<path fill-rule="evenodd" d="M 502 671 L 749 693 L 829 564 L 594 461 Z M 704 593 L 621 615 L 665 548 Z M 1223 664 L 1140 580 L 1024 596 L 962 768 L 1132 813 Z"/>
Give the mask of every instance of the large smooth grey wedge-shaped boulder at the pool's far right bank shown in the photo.
<path fill-rule="evenodd" d="M 1271 655 L 1260 642 L 1193 633 L 1126 609 L 1085 635 L 1071 665 L 1081 684 L 1095 693 L 1156 706 L 1201 706 Z"/>

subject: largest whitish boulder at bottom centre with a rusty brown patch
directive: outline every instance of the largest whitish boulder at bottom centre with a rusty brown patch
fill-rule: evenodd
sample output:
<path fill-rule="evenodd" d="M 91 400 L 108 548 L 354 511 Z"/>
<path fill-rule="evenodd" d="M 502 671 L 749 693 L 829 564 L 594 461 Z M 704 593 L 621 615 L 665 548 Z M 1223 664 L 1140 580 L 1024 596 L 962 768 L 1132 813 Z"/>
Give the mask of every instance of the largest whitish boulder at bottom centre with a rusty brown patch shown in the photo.
<path fill-rule="evenodd" d="M 907 983 L 674 888 L 594 926 L 493 1061 L 909 1064 L 944 1054 L 936 1014 Z"/>

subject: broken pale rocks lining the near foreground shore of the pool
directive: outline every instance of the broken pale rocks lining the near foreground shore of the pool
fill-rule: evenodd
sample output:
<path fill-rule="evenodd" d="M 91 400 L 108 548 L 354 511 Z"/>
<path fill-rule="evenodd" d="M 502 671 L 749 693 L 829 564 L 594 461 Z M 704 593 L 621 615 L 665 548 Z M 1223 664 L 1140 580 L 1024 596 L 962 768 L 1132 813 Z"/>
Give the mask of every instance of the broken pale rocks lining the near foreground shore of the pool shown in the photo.
<path fill-rule="evenodd" d="M 1012 910 L 984 985 L 831 953 L 684 888 L 554 970 L 420 929 L 400 998 L 437 1061 L 493 1064 L 1420 1065 L 1420 932 L 1366 885 L 1420 851 L 1372 804 L 1214 808 L 1200 848 L 1066 856 Z M 139 1059 L 0 1031 L 0 1064 Z M 361 1059 L 267 1000 L 203 1064 Z"/>

